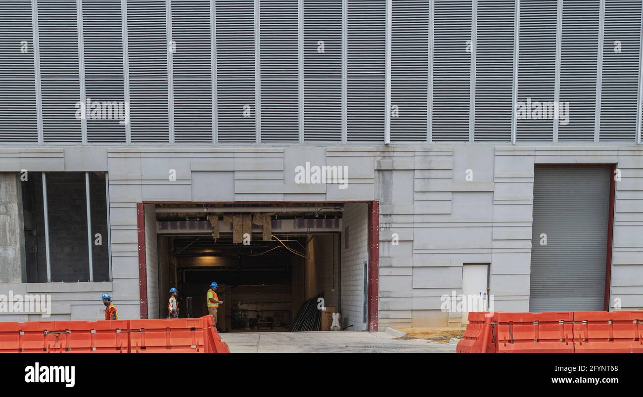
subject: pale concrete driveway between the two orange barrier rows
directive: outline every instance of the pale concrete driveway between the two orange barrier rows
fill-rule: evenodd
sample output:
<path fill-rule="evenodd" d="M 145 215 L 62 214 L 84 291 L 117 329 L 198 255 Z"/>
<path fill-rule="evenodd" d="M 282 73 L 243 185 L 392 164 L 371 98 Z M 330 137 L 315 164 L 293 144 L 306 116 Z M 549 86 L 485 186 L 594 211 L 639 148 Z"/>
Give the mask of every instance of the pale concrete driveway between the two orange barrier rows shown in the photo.
<path fill-rule="evenodd" d="M 220 333 L 231 353 L 454 353 L 455 344 L 400 340 L 386 332 Z"/>

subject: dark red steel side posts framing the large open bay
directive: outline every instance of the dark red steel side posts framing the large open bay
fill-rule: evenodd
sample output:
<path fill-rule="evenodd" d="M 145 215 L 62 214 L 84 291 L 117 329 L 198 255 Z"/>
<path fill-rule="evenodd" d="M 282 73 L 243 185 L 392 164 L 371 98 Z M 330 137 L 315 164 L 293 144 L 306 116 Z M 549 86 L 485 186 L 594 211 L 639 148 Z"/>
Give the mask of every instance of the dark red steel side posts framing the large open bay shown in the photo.
<path fill-rule="evenodd" d="M 248 204 L 248 203 L 244 203 Z M 282 204 L 288 204 L 287 202 Z M 367 319 L 368 330 L 377 331 L 379 314 L 379 202 L 368 202 L 368 291 Z M 145 254 L 145 207 L 136 204 L 136 223 L 138 233 L 138 286 L 141 319 L 148 318 L 147 308 L 147 256 Z"/>

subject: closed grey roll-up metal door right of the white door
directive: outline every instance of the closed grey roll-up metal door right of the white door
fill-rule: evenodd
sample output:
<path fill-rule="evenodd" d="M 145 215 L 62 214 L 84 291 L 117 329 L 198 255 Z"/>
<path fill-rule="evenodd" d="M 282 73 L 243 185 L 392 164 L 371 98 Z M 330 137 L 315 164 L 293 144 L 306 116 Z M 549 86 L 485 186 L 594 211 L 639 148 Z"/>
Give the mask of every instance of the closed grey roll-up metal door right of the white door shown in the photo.
<path fill-rule="evenodd" d="M 529 311 L 603 310 L 610 166 L 534 173 Z"/>

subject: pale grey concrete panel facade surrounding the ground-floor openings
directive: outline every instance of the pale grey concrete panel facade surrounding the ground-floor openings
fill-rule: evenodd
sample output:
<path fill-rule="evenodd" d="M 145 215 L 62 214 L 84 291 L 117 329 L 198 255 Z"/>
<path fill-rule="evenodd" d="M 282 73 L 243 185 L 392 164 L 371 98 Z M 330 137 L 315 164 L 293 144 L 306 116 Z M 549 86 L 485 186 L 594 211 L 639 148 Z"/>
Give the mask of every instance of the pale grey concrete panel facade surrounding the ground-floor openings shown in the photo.
<path fill-rule="evenodd" d="M 379 200 L 381 327 L 459 322 L 458 315 L 440 312 L 440 296 L 462 292 L 463 263 L 491 263 L 497 310 L 528 310 L 534 164 L 617 163 L 622 179 L 610 304 L 619 298 L 623 309 L 643 307 L 640 146 L 75 146 L 2 148 L 0 154 L 0 172 L 109 172 L 112 288 L 123 318 L 139 315 L 137 202 Z M 294 168 L 306 162 L 348 166 L 348 188 L 296 184 Z M 467 170 L 473 181 L 466 180 Z M 342 255 L 342 267 L 346 259 Z M 71 316 L 65 284 L 33 288 L 49 288 L 66 306 L 60 313 Z M 342 300 L 345 293 L 342 288 Z M 74 299 L 95 304 L 93 295 Z M 361 320 L 361 308 L 359 314 Z"/>

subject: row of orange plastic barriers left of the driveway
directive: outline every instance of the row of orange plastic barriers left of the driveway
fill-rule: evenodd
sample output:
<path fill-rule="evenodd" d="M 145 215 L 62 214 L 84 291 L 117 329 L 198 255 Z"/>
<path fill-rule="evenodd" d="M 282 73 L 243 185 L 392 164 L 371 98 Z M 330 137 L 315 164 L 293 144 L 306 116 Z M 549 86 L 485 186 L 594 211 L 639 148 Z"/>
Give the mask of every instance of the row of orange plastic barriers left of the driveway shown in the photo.
<path fill-rule="evenodd" d="M 0 353 L 230 353 L 212 317 L 0 322 Z"/>

